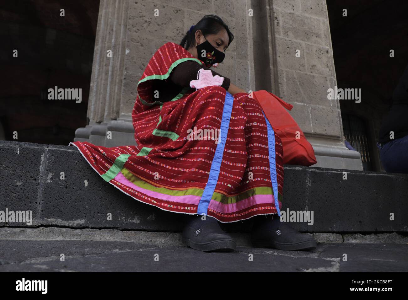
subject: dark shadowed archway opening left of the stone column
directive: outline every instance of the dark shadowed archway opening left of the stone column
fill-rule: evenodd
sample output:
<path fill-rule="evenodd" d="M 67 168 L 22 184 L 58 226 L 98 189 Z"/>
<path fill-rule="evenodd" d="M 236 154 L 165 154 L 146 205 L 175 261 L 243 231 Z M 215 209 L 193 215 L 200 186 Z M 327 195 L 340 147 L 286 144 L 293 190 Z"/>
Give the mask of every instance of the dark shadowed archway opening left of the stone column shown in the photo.
<path fill-rule="evenodd" d="M 86 125 L 98 10 L 99 0 L 2 2 L 0 138 L 68 145 Z M 81 89 L 81 102 L 49 100 L 55 86 Z"/>

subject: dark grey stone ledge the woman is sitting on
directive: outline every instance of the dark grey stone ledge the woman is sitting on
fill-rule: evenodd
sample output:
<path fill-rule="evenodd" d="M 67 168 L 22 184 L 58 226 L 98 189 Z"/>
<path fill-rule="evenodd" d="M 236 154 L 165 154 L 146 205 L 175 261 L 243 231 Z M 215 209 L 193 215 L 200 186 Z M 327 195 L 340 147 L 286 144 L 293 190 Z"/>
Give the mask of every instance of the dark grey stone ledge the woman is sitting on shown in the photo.
<path fill-rule="evenodd" d="M 0 155 L 0 211 L 33 213 L 31 225 L 9 222 L 0 226 L 178 232 L 188 217 L 122 193 L 104 181 L 76 147 L 0 141 Z M 293 165 L 285 166 L 284 172 L 282 211 L 313 211 L 313 224 L 290 224 L 299 231 L 408 231 L 408 174 Z M 107 220 L 108 213 L 112 220 Z M 251 223 L 248 219 L 222 227 L 248 232 Z"/>

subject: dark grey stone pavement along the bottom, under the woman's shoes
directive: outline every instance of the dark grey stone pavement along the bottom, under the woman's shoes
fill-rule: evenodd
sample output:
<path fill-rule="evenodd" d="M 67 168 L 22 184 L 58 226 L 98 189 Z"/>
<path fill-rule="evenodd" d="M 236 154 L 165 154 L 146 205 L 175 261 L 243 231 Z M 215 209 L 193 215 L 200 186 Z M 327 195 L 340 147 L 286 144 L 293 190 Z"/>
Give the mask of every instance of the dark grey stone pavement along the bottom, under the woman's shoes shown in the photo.
<path fill-rule="evenodd" d="M 203 253 L 139 242 L 11 239 L 0 240 L 0 272 L 406 272 L 407 249 L 406 244 L 323 243 L 313 251 L 238 246 L 232 253 Z"/>

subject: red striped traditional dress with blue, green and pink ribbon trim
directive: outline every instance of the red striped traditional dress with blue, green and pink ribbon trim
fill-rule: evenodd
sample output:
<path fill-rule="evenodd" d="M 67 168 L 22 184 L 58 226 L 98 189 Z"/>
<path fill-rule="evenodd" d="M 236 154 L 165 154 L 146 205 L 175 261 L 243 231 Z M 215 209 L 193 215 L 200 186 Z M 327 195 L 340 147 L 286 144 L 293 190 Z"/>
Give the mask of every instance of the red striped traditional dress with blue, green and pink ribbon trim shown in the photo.
<path fill-rule="evenodd" d="M 282 142 L 255 99 L 210 86 L 183 90 L 168 102 L 155 101 L 152 80 L 168 78 L 186 60 L 203 64 L 169 42 L 149 61 L 137 84 L 132 113 L 137 146 L 70 144 L 104 180 L 160 209 L 205 213 L 220 222 L 279 212 Z M 194 129 L 221 133 L 218 140 L 191 139 Z"/>

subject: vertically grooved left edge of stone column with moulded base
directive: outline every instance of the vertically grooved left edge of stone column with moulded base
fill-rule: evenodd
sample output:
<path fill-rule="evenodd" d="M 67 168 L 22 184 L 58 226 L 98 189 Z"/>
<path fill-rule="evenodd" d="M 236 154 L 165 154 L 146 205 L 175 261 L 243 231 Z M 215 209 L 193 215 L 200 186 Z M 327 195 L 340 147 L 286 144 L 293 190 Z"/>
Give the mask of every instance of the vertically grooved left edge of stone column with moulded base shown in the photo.
<path fill-rule="evenodd" d="M 106 147 L 135 144 L 131 109 L 120 110 L 128 11 L 127 0 L 100 1 L 87 113 L 89 125 L 75 131 L 75 140 Z"/>

